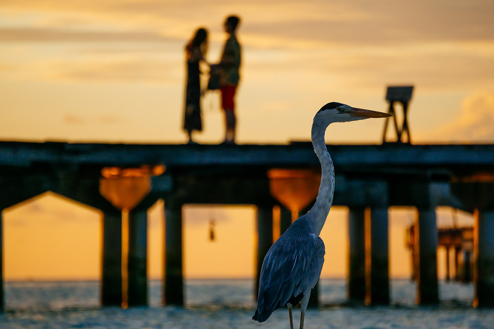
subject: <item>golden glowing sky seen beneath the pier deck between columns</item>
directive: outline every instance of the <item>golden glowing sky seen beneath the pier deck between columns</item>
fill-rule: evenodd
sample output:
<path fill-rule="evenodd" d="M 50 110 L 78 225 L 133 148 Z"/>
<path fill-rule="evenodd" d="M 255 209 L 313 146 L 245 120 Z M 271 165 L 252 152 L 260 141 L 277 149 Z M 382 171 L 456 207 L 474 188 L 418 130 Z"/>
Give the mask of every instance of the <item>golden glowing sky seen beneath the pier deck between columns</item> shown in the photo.
<path fill-rule="evenodd" d="M 66 200 L 54 193 L 45 193 L 34 201 L 4 212 L 6 281 L 100 279 L 100 214 L 93 210 L 84 212 L 80 207 L 75 207 L 73 202 Z M 163 276 L 162 207 L 163 201 L 159 201 L 148 211 L 150 279 L 161 279 Z M 412 222 L 410 214 L 413 214 L 413 211 L 401 208 L 390 210 L 391 277 L 410 276 L 409 252 L 405 248 L 405 228 Z M 183 214 L 185 279 L 254 277 L 255 207 L 186 205 Z M 33 218 L 33 215 L 38 219 L 28 219 Z M 322 278 L 347 276 L 347 215 L 346 207 L 333 206 L 321 232 L 326 245 Z M 215 241 L 209 241 L 211 219 L 215 220 Z M 81 230 L 80 226 L 84 221 L 85 228 Z M 88 226 L 87 221 L 92 222 L 92 226 Z M 41 236 L 40 232 L 46 232 L 47 229 L 49 233 Z M 63 231 L 60 231 L 61 229 Z M 79 241 L 75 246 L 74 239 Z M 25 242 L 19 241 L 29 241 L 31 244 L 26 245 Z M 50 243 L 47 244 L 48 241 Z M 124 244 L 125 241 L 123 236 Z M 39 246 L 45 247 L 40 249 Z M 87 249 L 88 247 L 91 249 Z M 63 253 L 60 252 L 62 250 Z M 33 260 L 43 259 L 40 253 L 52 261 Z M 56 262 L 53 262 L 55 259 Z M 35 267 L 32 266 L 34 264 Z M 81 271 L 81 268 L 84 268 L 84 271 Z M 440 275 L 444 276 L 442 272 Z"/>

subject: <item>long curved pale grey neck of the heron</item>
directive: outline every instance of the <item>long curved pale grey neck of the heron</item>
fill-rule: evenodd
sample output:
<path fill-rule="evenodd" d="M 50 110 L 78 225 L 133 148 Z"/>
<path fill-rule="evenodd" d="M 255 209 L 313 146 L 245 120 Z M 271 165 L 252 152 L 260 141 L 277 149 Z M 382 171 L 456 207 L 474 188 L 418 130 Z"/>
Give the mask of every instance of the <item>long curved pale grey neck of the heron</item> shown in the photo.
<path fill-rule="evenodd" d="M 327 127 L 327 124 L 319 123 L 316 120 L 312 124 L 312 145 L 314 145 L 314 150 L 321 162 L 321 185 L 319 186 L 316 203 L 309 211 L 311 214 L 309 220 L 317 236 L 321 233 L 328 217 L 334 193 L 334 167 L 324 140 Z"/>

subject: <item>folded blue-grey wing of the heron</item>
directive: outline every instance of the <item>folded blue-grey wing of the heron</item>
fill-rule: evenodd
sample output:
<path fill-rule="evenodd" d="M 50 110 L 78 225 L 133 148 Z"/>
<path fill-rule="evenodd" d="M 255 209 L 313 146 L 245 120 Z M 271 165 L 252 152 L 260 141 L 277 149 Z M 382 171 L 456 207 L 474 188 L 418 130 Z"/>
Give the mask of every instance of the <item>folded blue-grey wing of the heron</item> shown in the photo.
<path fill-rule="evenodd" d="M 324 255 L 323 240 L 312 232 L 278 239 L 262 264 L 254 320 L 266 321 L 288 302 L 298 304 L 317 284 Z"/>

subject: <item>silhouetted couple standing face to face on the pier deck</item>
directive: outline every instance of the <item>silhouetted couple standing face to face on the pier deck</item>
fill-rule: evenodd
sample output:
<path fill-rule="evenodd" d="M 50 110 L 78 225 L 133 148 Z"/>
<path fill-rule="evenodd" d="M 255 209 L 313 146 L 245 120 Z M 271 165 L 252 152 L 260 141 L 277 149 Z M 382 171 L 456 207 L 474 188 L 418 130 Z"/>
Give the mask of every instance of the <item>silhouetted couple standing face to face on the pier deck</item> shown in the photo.
<path fill-rule="evenodd" d="M 208 89 L 219 89 L 221 92 L 221 107 L 225 112 L 225 140 L 224 144 L 235 144 L 235 92 L 239 84 L 240 44 L 235 36 L 240 18 L 229 16 L 225 20 L 224 29 L 228 39 L 223 47 L 220 62 L 210 65 L 206 62 L 207 30 L 200 28 L 194 37 L 185 46 L 187 56 L 187 88 L 185 92 L 184 130 L 189 134 L 189 143 L 192 141 L 192 132 L 202 131 L 201 119 L 201 81 L 199 63 L 203 62 L 210 67 Z"/>

